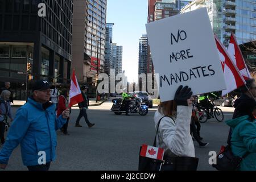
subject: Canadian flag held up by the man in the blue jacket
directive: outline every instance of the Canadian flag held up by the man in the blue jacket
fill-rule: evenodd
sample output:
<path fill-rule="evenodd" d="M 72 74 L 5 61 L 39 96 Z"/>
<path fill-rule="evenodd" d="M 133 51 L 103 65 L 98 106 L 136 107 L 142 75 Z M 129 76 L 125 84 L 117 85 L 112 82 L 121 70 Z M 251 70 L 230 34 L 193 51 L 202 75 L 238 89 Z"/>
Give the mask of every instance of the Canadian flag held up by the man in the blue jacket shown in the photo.
<path fill-rule="evenodd" d="M 79 87 L 79 84 L 77 82 L 75 70 L 73 70 L 72 80 L 71 80 L 71 86 L 69 90 L 69 107 L 78 104 L 79 102 L 84 101 L 84 98 L 82 98 L 82 93 Z"/>

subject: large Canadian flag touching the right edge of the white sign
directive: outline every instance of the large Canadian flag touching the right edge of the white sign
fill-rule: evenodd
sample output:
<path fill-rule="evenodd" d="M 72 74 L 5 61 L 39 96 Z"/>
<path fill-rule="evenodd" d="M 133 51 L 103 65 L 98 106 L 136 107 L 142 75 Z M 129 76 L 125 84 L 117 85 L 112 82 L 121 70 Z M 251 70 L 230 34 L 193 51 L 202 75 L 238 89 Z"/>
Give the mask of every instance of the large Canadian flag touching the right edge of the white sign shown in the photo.
<path fill-rule="evenodd" d="M 236 90 L 242 85 L 245 85 L 245 80 L 216 35 L 215 40 L 226 82 L 226 90 L 222 90 L 222 96 L 225 96 L 225 94 Z"/>

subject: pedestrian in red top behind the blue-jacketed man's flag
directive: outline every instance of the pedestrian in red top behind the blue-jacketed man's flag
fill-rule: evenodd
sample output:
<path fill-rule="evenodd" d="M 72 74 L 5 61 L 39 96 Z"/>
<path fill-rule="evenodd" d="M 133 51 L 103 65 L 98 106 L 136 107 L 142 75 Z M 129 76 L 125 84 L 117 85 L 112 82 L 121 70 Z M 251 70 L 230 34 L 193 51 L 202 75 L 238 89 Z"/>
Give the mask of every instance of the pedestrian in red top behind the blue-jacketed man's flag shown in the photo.
<path fill-rule="evenodd" d="M 63 89 L 61 91 L 58 106 L 57 106 L 57 117 L 59 117 L 61 115 L 61 113 L 63 113 L 63 111 L 66 109 L 71 110 L 71 108 L 68 107 L 68 90 Z M 69 117 L 67 118 L 67 122 L 61 128 L 61 131 L 63 132 L 64 135 L 69 135 L 68 122 L 69 122 Z"/>

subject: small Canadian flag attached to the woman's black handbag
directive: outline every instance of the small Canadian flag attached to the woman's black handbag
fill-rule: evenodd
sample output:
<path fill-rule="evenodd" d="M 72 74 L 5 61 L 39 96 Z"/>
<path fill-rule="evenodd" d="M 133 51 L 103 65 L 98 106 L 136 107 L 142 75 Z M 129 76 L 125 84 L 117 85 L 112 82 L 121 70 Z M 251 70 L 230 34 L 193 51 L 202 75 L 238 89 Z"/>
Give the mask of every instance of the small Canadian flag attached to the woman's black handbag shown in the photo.
<path fill-rule="evenodd" d="M 164 154 L 164 149 L 159 148 L 159 147 L 152 147 L 148 146 L 146 144 L 142 145 L 141 148 L 141 156 L 151 158 L 151 159 L 158 159 L 158 160 L 163 160 L 163 154 Z"/>

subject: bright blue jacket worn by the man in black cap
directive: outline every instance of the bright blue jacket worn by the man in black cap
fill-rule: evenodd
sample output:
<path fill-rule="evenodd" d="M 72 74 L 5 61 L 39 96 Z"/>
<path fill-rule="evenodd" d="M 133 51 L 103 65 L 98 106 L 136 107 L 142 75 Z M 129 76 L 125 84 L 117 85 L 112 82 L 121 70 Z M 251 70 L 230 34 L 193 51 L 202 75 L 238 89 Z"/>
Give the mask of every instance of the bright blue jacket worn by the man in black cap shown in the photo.
<path fill-rule="evenodd" d="M 10 127 L 5 145 L 0 151 L 0 163 L 7 164 L 11 152 L 20 143 L 22 160 L 25 166 L 38 165 L 39 151 L 46 152 L 46 162 L 55 160 L 56 130 L 60 129 L 67 119 L 61 115 L 56 119 L 55 105 L 49 105 L 46 110 L 43 105 L 28 98 L 28 102 L 16 113 L 13 125 Z"/>

